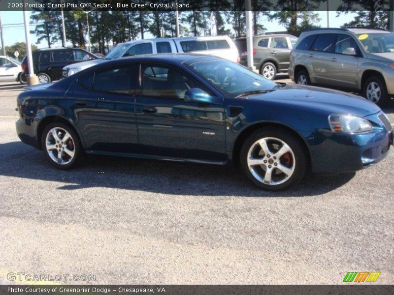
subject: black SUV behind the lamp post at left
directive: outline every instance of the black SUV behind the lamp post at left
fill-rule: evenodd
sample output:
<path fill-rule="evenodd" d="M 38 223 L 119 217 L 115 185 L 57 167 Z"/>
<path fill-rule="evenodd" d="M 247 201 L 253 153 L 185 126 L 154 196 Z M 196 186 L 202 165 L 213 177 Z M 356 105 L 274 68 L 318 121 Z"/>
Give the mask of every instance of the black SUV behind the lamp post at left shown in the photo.
<path fill-rule="evenodd" d="M 44 84 L 59 80 L 62 69 L 68 64 L 99 59 L 94 54 L 79 48 L 48 48 L 33 51 L 33 69 L 38 77 L 38 83 Z M 26 79 L 28 61 L 25 57 L 22 61 L 23 77 Z"/>

